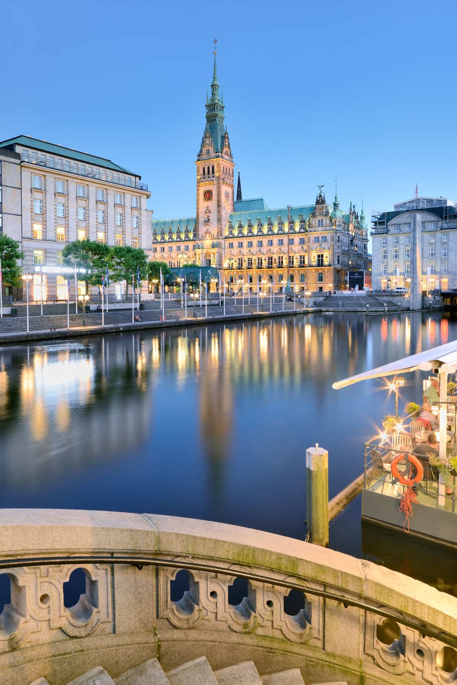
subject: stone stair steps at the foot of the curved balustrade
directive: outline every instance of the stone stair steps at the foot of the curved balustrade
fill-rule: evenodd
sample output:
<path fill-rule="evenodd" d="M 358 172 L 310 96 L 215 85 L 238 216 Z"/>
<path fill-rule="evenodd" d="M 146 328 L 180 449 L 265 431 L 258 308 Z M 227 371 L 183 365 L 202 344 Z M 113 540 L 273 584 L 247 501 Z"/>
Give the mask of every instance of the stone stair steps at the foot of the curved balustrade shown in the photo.
<path fill-rule="evenodd" d="M 38 678 L 30 685 L 53 685 Z M 112 677 L 101 666 L 82 673 L 68 685 L 347 685 L 345 680 L 305 684 L 300 669 L 290 669 L 259 675 L 253 661 L 245 661 L 219 671 L 213 671 L 206 657 L 188 661 L 165 673 L 157 659 L 150 659 Z"/>

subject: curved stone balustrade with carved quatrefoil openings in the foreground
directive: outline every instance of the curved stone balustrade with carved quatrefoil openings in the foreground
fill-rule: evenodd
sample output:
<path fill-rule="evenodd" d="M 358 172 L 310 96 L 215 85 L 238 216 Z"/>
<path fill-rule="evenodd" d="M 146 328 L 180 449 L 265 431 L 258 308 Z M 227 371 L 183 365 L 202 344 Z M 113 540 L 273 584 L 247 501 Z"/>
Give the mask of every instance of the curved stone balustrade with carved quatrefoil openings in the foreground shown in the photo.
<path fill-rule="evenodd" d="M 98 664 L 115 677 L 154 656 L 169 670 L 203 655 L 213 669 L 299 667 L 305 682 L 457 682 L 457 599 L 371 562 L 154 514 L 1 510 L 1 520 L 11 598 L 0 685 L 61 685 Z"/>

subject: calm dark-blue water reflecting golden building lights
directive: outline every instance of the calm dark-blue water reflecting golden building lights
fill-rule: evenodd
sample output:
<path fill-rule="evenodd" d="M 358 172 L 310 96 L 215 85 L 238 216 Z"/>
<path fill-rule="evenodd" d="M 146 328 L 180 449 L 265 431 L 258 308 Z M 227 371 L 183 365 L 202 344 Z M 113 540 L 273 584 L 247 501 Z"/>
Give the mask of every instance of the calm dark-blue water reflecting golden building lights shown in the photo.
<path fill-rule="evenodd" d="M 2 347 L 0 506 L 156 512 L 304 538 L 306 447 L 328 449 L 332 497 L 394 411 L 380 381 L 332 382 L 455 338 L 457 322 L 439 314 L 312 314 Z M 401 407 L 420 400 L 422 377 L 408 375 Z M 423 549 L 384 538 L 362 530 L 358 498 L 330 545 L 453 591 Z"/>

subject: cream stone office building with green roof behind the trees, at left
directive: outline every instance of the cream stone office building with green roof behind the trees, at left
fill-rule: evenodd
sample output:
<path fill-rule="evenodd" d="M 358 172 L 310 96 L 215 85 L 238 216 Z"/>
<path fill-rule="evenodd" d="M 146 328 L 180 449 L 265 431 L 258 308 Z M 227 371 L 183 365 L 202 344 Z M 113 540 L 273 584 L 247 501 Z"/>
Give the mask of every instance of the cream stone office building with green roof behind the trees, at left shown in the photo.
<path fill-rule="evenodd" d="M 32 299 L 66 299 L 66 278 L 36 267 L 62 264 L 62 251 L 73 240 L 142 247 L 151 255 L 151 193 L 140 175 L 28 136 L 0 142 L 0 162 L 1 229 L 21 244 L 23 270 L 34 273 Z M 110 292 L 123 291 L 124 284 L 110 284 Z"/>

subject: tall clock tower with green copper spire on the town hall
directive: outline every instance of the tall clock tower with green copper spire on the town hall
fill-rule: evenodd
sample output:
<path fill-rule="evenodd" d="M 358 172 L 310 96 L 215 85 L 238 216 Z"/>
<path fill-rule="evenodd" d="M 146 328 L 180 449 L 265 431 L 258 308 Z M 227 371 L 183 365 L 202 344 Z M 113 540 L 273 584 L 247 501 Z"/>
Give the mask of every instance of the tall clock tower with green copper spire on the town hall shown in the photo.
<path fill-rule="evenodd" d="M 223 235 L 234 211 L 234 162 L 227 129 L 224 103 L 217 82 L 216 40 L 211 97 L 206 99 L 206 127 L 197 155 L 197 250 L 201 266 L 223 267 Z"/>

